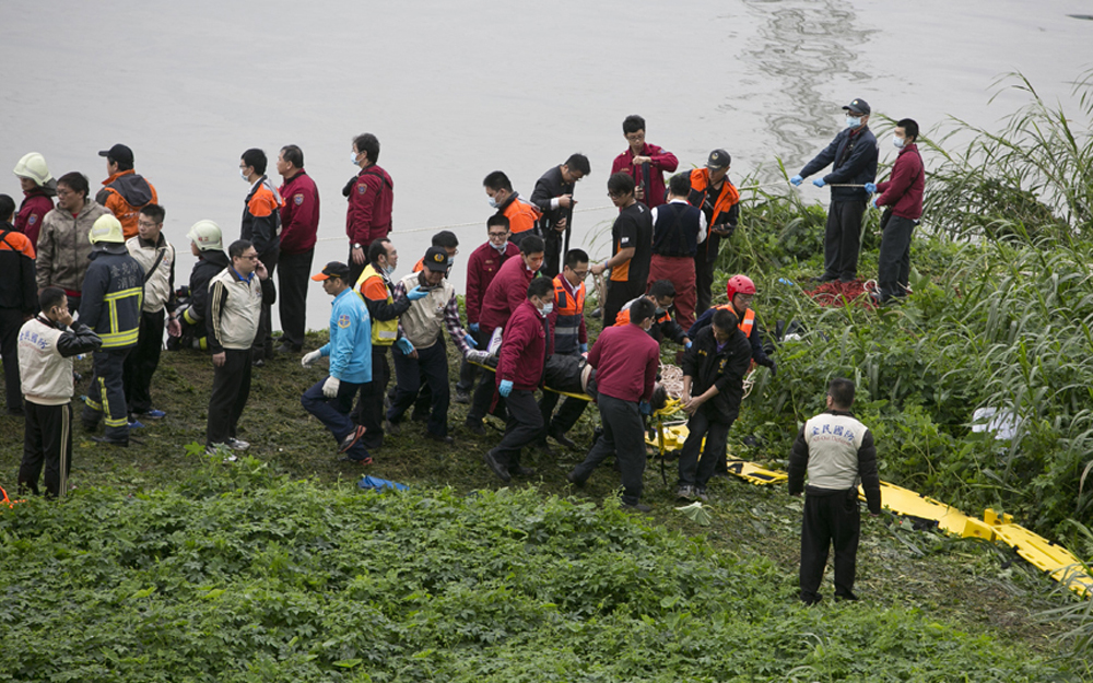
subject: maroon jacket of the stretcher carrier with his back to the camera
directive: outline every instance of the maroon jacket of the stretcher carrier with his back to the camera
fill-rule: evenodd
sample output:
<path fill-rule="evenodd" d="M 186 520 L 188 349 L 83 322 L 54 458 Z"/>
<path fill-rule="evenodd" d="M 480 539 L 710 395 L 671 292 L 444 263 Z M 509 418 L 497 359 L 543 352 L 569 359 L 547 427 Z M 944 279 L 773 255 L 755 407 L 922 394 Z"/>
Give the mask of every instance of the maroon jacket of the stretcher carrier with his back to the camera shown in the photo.
<path fill-rule="evenodd" d="M 609 327 L 592 344 L 588 362 L 596 368 L 600 393 L 620 401 L 648 401 L 660 367 L 660 344 L 636 325 Z"/>

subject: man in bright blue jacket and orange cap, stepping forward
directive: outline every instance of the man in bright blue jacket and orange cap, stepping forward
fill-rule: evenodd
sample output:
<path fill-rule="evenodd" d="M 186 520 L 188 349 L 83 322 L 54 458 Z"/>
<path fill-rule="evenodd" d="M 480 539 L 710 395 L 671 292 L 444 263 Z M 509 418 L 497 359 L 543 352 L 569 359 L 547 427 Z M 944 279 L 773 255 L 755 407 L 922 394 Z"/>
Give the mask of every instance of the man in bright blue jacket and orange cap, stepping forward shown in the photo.
<path fill-rule="evenodd" d="M 308 367 L 321 357 L 330 358 L 330 373 L 299 397 L 304 409 L 315 415 L 334 437 L 338 452 L 346 462 L 372 464 L 372 456 L 361 443 L 365 427 L 353 424 L 349 412 L 353 397 L 372 381 L 372 322 L 368 309 L 353 292 L 349 266 L 330 261 L 312 280 L 322 283 L 322 291 L 334 297 L 330 310 L 330 341 L 306 354 L 301 364 Z"/>

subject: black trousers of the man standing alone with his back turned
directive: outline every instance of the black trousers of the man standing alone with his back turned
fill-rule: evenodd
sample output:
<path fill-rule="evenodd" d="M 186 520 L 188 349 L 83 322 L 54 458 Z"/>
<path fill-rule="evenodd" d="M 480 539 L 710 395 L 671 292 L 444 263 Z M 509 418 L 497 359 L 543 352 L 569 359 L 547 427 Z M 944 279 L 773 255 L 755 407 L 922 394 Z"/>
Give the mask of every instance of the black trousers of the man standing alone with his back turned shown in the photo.
<path fill-rule="evenodd" d="M 861 511 L 858 490 L 815 494 L 806 488 L 801 523 L 801 600 L 820 601 L 827 552 L 835 546 L 835 597 L 854 599 Z"/>

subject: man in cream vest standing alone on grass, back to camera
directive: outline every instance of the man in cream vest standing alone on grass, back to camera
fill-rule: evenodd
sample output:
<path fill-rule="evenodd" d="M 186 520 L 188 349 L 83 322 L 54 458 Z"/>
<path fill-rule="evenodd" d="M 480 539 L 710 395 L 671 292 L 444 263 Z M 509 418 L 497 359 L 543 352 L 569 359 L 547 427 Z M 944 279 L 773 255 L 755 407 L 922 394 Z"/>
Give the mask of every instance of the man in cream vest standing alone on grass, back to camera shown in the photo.
<path fill-rule="evenodd" d="M 869 514 L 881 514 L 873 433 L 854 417 L 854 382 L 836 377 L 827 387 L 827 410 L 804 423 L 789 455 L 789 494 L 804 492 L 801 523 L 801 601 L 823 598 L 827 552 L 835 546 L 835 600 L 857 600 L 854 576 L 861 530 L 858 485 Z M 808 472 L 808 486 L 804 475 Z"/>

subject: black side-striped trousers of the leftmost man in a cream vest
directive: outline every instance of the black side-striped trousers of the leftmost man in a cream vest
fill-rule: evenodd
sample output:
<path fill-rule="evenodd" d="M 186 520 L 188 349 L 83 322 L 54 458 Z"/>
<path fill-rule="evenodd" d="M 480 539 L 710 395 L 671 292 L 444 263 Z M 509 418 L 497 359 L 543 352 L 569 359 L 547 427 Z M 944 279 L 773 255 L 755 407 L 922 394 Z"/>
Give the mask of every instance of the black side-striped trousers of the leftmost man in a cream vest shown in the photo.
<path fill-rule="evenodd" d="M 19 490 L 38 495 L 38 475 L 45 462 L 46 495 L 62 496 L 68 491 L 72 469 L 72 404 L 40 405 L 26 401 L 25 410 Z"/>

